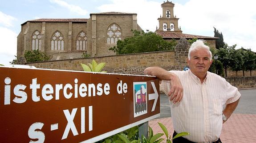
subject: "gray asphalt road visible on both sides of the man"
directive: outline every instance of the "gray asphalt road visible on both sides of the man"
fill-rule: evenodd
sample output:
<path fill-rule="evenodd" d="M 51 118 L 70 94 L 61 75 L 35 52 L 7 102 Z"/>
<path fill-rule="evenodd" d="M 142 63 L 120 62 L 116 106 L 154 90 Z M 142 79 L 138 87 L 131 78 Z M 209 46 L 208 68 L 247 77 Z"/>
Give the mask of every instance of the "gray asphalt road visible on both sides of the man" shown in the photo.
<path fill-rule="evenodd" d="M 239 90 L 241 93 L 240 101 L 233 113 L 238 114 L 256 114 L 256 89 Z M 171 117 L 171 109 L 168 97 L 160 94 L 160 117 Z"/>

